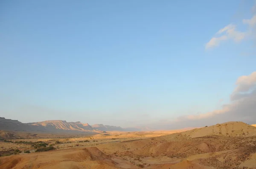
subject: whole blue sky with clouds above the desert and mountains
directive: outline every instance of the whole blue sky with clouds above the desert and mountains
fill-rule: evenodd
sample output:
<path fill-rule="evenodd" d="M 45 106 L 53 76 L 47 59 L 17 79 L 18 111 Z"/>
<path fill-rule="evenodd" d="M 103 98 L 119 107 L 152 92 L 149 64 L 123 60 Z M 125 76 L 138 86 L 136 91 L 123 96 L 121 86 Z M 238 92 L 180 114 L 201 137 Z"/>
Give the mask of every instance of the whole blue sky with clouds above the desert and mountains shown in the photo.
<path fill-rule="evenodd" d="M 256 123 L 255 63 L 255 0 L 0 1 L 0 116 L 24 123 Z"/>

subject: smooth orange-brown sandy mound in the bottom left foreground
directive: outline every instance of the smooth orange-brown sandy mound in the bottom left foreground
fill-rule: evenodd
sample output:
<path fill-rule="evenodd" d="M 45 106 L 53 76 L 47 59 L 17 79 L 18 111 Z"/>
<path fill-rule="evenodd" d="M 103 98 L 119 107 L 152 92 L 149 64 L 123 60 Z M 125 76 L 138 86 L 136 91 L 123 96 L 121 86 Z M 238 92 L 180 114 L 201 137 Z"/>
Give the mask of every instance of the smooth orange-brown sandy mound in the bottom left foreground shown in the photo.
<path fill-rule="evenodd" d="M 0 158 L 1 169 L 117 169 L 96 147 L 12 155 Z"/>

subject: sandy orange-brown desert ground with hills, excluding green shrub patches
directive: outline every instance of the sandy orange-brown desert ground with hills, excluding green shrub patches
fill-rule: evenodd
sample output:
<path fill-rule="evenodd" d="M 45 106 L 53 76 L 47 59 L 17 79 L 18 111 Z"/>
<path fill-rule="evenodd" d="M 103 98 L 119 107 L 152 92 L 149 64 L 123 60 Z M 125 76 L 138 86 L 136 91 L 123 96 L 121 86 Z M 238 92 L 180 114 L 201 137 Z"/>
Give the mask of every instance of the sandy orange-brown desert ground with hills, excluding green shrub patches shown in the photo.
<path fill-rule="evenodd" d="M 56 150 L 34 152 L 31 145 L 17 144 L 17 140 L 47 142 Z M 16 148 L 22 152 L 0 157 L 1 169 L 256 169 L 256 127 L 242 122 L 188 131 L 102 132 L 8 141 L 14 143 L 2 141 L 2 152 Z"/>

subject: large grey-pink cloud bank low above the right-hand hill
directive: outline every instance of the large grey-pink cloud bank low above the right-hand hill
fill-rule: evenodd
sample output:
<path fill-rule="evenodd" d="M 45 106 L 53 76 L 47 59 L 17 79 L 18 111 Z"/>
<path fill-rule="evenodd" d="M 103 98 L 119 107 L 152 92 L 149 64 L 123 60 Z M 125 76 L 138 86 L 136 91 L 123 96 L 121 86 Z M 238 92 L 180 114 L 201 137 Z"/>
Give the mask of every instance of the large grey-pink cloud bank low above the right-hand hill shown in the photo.
<path fill-rule="evenodd" d="M 182 127 L 202 127 L 227 121 L 244 121 L 256 124 L 256 71 L 236 80 L 231 93 L 230 104 L 222 109 L 208 113 L 180 116 L 173 121 L 155 124 L 156 129 L 174 129 Z"/>

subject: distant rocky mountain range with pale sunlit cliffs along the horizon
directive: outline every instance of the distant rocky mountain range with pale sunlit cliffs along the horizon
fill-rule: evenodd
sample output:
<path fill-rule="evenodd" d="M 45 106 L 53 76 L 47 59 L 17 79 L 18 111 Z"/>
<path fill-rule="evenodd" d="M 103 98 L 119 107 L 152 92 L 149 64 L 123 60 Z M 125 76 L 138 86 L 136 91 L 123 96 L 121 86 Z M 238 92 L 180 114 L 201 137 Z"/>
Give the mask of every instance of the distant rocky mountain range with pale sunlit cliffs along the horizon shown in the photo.
<path fill-rule="evenodd" d="M 93 132 L 93 131 L 141 131 L 140 128 L 122 128 L 103 124 L 83 124 L 80 121 L 67 122 L 49 120 L 35 123 L 21 123 L 17 120 L 0 117 L 0 130 L 38 131 L 38 132 Z"/>

